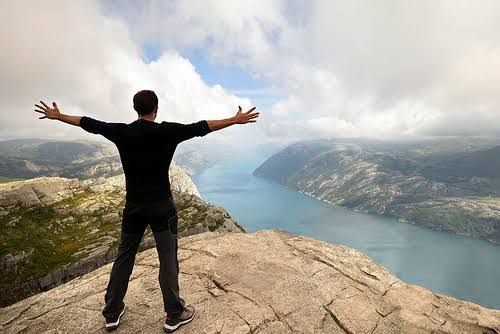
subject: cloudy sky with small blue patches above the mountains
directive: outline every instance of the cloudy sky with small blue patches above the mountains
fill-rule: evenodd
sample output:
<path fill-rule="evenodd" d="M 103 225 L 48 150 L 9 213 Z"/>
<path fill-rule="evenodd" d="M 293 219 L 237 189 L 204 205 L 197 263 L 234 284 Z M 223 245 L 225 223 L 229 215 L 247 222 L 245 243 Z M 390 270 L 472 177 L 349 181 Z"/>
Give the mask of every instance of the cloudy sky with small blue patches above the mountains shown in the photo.
<path fill-rule="evenodd" d="M 3 1 L 0 138 L 95 138 L 33 105 L 132 122 L 255 106 L 218 145 L 500 133 L 498 1 Z"/>

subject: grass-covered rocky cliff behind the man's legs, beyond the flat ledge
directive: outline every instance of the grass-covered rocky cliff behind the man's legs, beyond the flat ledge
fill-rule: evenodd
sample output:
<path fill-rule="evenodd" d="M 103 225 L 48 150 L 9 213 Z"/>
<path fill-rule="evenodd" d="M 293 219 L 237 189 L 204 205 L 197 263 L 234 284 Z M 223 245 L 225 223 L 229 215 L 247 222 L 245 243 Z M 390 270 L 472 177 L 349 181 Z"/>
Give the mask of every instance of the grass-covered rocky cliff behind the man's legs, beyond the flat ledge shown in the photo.
<path fill-rule="evenodd" d="M 175 163 L 170 168 L 179 235 L 243 230 L 223 208 L 205 203 Z M 112 261 L 120 239 L 124 197 L 123 174 L 0 184 L 0 306 Z M 148 228 L 141 249 L 153 246 Z"/>

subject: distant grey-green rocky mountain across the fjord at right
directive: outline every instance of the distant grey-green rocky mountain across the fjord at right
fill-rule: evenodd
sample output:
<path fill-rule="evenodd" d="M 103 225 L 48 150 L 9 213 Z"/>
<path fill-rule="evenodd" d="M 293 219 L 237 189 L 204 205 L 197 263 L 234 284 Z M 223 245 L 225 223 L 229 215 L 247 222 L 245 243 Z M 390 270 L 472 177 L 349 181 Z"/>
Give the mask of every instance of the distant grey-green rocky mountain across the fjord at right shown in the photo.
<path fill-rule="evenodd" d="M 500 242 L 497 140 L 313 140 L 253 173 L 331 204 Z"/>

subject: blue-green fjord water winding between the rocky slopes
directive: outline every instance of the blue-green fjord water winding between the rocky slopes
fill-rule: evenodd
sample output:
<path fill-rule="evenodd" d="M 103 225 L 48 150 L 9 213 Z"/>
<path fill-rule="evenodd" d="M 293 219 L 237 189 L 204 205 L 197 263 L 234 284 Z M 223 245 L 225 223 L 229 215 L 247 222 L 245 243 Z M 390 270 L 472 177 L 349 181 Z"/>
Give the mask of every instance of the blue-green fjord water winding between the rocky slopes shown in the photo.
<path fill-rule="evenodd" d="M 247 232 L 282 229 L 355 248 L 400 279 L 500 309 L 500 245 L 332 206 L 252 175 L 266 156 L 246 154 L 193 176 L 205 201 Z"/>

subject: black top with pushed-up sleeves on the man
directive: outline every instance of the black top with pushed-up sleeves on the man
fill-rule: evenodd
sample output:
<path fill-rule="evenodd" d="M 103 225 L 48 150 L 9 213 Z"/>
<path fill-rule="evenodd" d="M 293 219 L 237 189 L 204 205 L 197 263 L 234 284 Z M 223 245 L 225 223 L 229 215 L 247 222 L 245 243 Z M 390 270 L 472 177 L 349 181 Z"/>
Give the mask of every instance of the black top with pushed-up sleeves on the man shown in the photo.
<path fill-rule="evenodd" d="M 168 172 L 179 143 L 211 132 L 206 120 L 182 124 L 137 119 L 130 124 L 107 123 L 87 116 L 80 126 L 115 143 L 125 173 L 127 201 L 159 202 L 172 197 Z"/>

